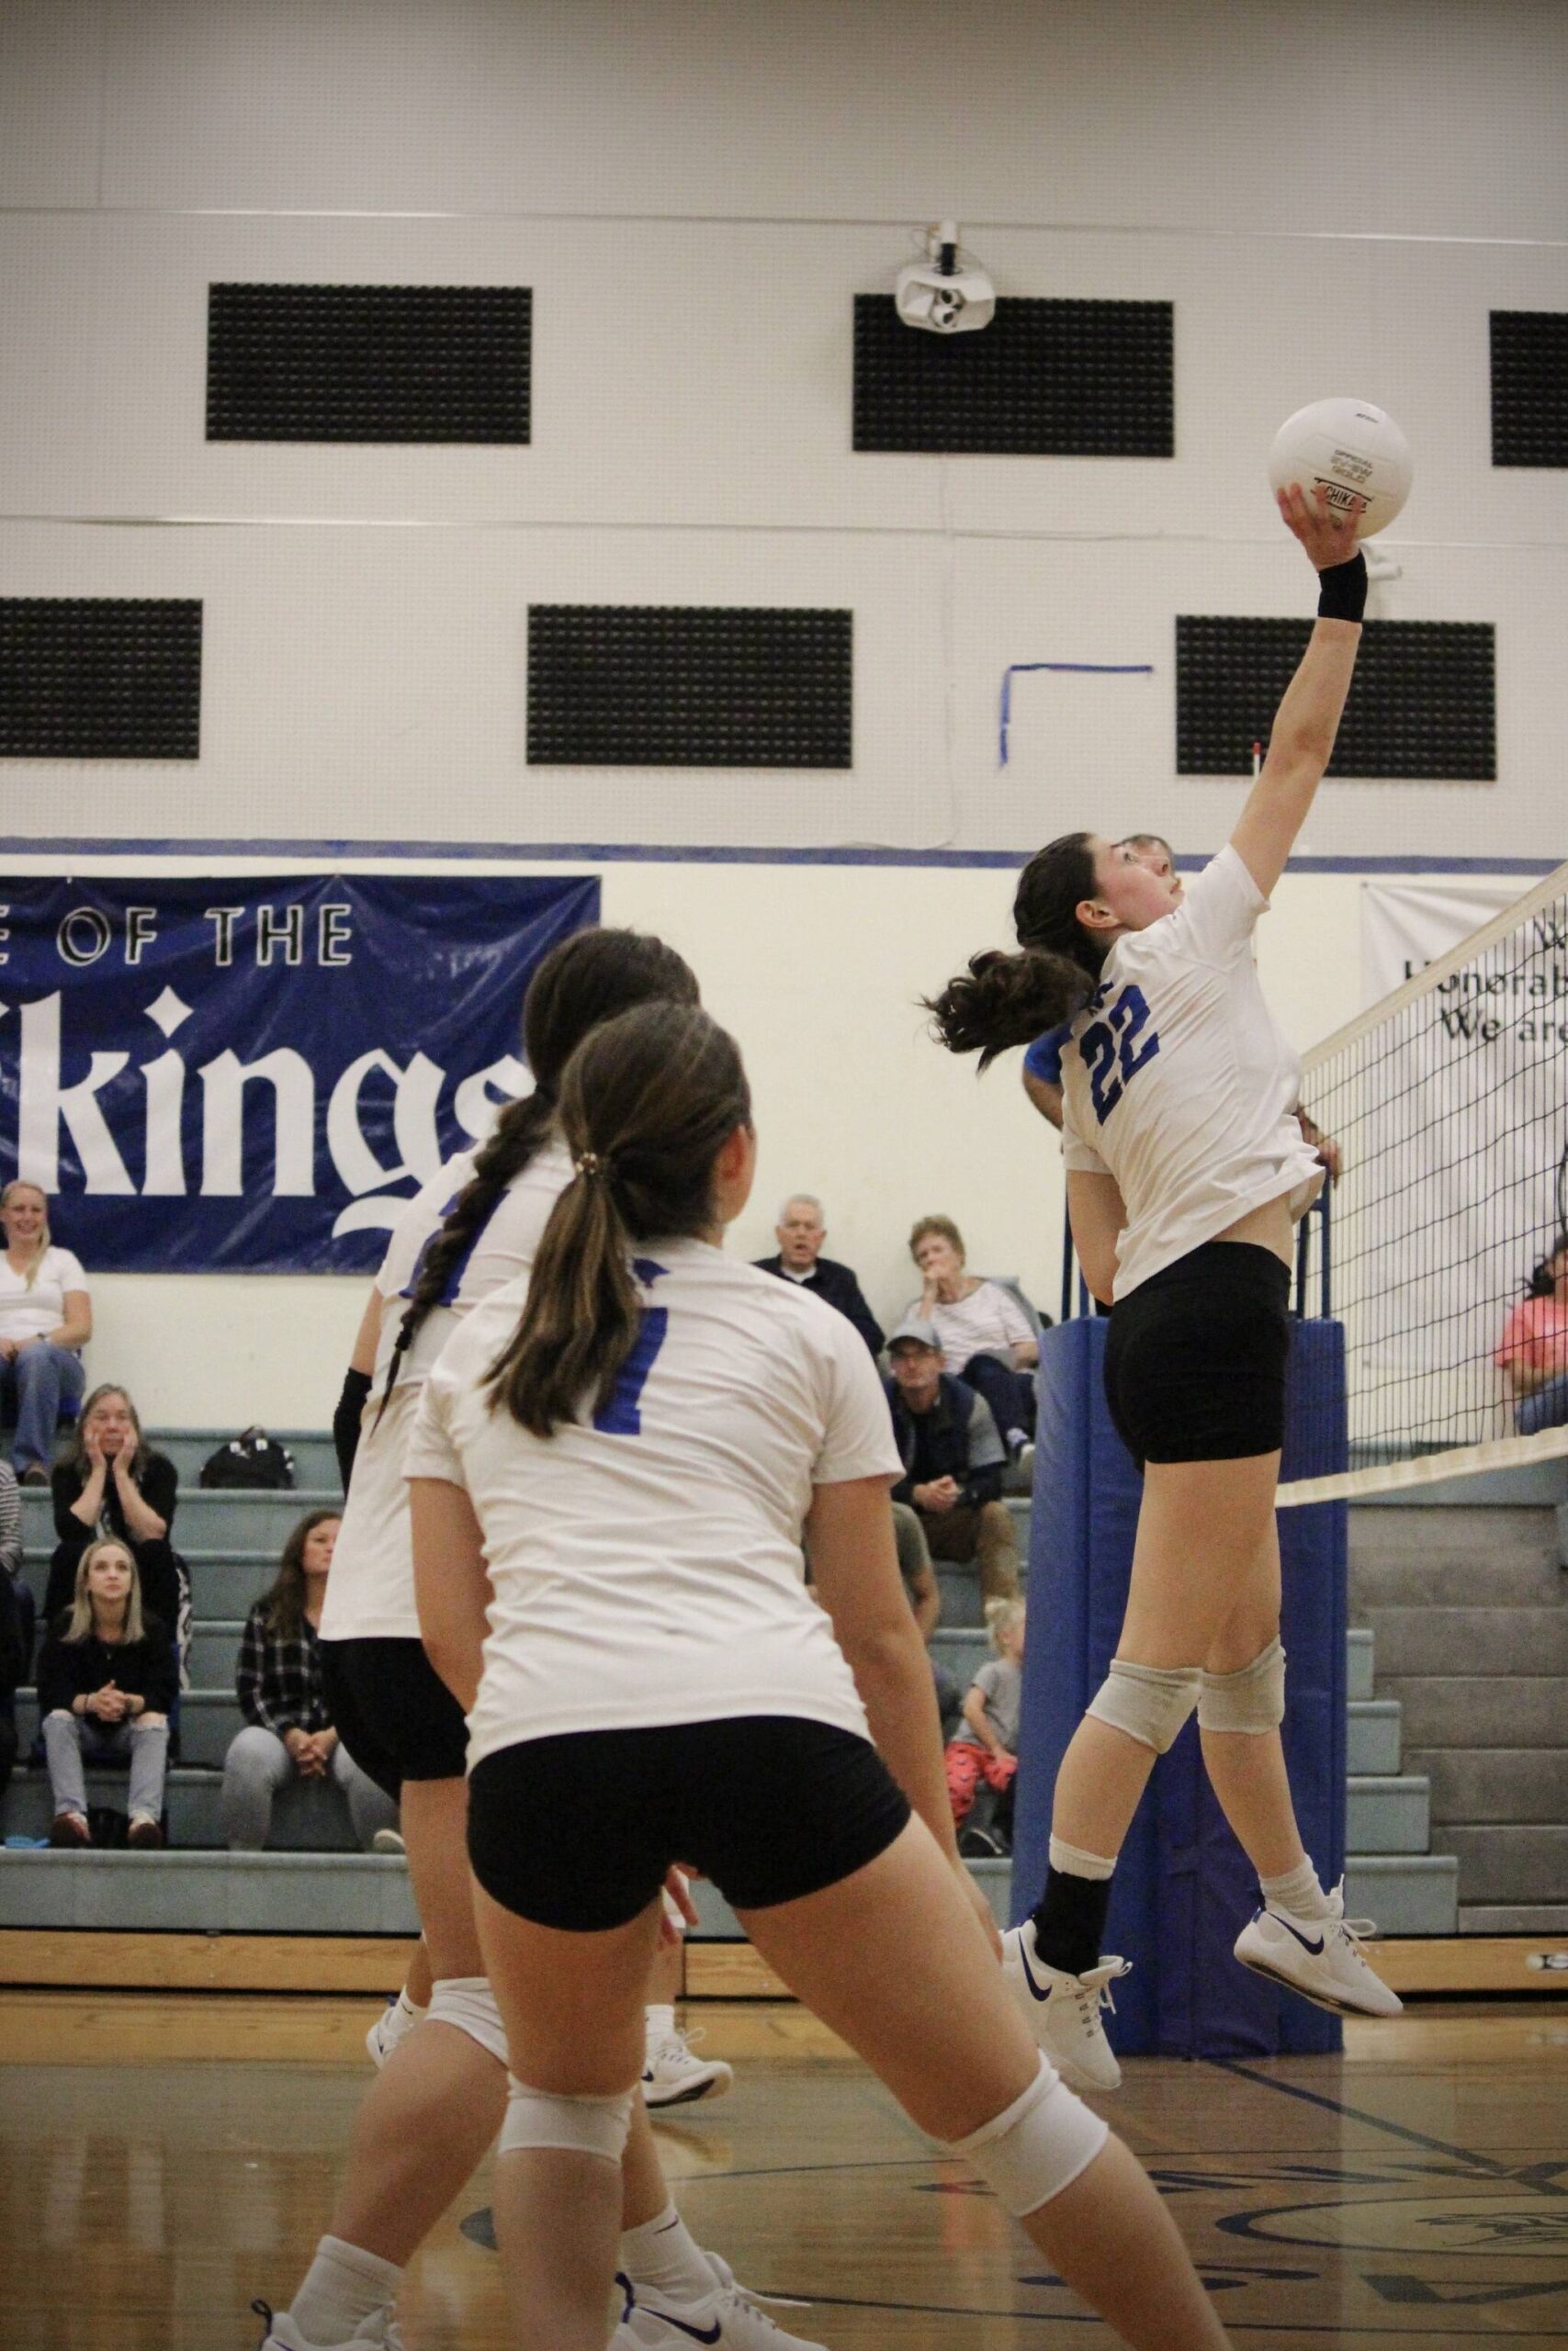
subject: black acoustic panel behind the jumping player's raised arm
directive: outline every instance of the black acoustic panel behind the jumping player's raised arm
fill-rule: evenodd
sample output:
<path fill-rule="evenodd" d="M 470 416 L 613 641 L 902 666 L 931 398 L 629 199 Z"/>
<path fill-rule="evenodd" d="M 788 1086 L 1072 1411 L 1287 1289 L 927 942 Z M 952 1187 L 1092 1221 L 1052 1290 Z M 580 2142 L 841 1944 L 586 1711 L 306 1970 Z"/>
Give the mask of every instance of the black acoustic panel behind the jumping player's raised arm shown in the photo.
<path fill-rule="evenodd" d="M 1178 776 L 1251 771 L 1253 743 L 1267 745 L 1309 635 L 1309 621 L 1178 616 Z M 1328 773 L 1493 783 L 1490 621 L 1368 621 Z"/>

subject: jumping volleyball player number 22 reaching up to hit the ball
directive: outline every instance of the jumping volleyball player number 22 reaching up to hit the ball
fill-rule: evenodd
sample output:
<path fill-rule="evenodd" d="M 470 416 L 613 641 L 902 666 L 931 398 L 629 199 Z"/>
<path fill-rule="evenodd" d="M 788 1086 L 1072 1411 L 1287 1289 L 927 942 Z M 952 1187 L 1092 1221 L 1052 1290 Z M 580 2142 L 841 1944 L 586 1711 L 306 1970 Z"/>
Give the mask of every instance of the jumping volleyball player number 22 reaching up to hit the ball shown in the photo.
<path fill-rule="evenodd" d="M 1067 1211 L 1091 1291 L 1114 1300 L 1105 1394 L 1145 1469 L 1117 1655 L 1063 1756 L 1044 1897 L 1004 1940 L 1039 2045 L 1100 2090 L 1121 2081 L 1100 2027 L 1126 1972 L 1100 1954 L 1112 1871 L 1154 1756 L 1194 1707 L 1262 1888 L 1237 1958 L 1321 2008 L 1401 2005 L 1302 1850 L 1279 1740 L 1291 1227 L 1324 1166 L 1291 1117 L 1300 1060 L 1251 938 L 1328 766 L 1366 607 L 1354 515 L 1335 520 L 1300 484 L 1279 510 L 1319 571 L 1319 621 L 1229 844 L 1182 889 L 1131 842 L 1051 842 L 1018 882 L 1023 952 L 978 955 L 931 1006 L 943 1044 L 978 1051 L 980 1067 L 1072 1016 Z"/>

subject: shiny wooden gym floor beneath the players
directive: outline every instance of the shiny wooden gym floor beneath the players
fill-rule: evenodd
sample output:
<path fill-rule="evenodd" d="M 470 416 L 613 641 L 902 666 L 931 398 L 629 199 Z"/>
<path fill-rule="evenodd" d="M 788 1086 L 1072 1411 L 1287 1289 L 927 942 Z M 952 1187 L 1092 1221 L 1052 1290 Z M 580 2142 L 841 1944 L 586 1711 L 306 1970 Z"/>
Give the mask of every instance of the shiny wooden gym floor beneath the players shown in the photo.
<path fill-rule="evenodd" d="M 252 2351 L 331 2203 L 367 1998 L 0 1994 L 5 2351 Z M 832 2351 L 1093 2351 L 961 2163 L 799 2008 L 703 2003 L 736 2090 L 668 2111 L 698 2238 Z M 1140 2059 L 1107 2104 L 1241 2346 L 1568 2344 L 1568 2003 L 1453 2003 L 1342 2059 Z M 409 2351 L 508 2344 L 487 2172 L 409 2271 Z M 477 2217 L 477 2224 L 475 2224 Z M 468 2231 L 463 2226 L 468 2222 Z"/>

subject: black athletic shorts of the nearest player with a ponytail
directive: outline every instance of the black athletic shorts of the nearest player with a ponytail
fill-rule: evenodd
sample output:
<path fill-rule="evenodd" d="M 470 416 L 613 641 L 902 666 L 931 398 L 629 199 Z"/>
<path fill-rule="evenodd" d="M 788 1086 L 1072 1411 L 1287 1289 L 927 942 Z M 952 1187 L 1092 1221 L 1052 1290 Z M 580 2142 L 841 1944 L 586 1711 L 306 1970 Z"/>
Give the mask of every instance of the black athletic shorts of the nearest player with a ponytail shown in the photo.
<path fill-rule="evenodd" d="M 475 1763 L 468 1860 L 534 1925 L 595 1935 L 691 1862 L 733 1909 L 797 1902 L 875 1862 L 910 1806 L 870 1744 L 795 1714 L 567 1730 Z"/>

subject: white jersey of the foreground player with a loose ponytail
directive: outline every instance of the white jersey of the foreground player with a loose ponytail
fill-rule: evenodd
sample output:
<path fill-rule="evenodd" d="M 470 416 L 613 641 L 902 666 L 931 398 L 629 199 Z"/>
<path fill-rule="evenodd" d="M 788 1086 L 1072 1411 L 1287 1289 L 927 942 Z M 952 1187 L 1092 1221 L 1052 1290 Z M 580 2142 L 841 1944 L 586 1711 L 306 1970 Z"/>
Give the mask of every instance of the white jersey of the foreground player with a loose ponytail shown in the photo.
<path fill-rule="evenodd" d="M 642 1338 L 597 1420 L 538 1439 L 491 1413 L 527 1281 L 425 1380 L 404 1465 L 468 1491 L 494 1592 L 470 1768 L 564 1730 L 738 1714 L 867 1735 L 799 1542 L 813 1486 L 903 1474 L 865 1340 L 705 1241 L 644 1241 L 635 1265 Z"/>

